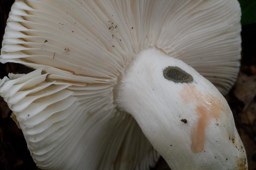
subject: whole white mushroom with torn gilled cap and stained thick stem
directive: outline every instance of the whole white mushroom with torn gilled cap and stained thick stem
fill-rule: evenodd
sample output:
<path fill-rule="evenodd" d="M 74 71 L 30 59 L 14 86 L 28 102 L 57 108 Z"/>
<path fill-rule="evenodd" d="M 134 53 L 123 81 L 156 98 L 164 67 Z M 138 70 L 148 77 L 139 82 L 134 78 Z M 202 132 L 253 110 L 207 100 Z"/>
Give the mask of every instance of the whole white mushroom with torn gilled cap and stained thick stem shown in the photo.
<path fill-rule="evenodd" d="M 0 94 L 41 169 L 247 169 L 225 95 L 241 51 L 235 0 L 16 0 Z M 221 94 L 222 93 L 222 94 Z"/>

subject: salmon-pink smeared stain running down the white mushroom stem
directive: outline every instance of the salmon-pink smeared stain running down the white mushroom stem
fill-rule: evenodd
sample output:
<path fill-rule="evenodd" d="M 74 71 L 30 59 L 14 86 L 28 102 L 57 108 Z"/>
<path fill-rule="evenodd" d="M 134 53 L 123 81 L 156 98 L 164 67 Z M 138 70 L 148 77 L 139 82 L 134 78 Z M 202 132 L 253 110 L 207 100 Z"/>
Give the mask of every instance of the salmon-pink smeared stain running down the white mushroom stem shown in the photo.
<path fill-rule="evenodd" d="M 204 149 L 206 129 L 211 119 L 219 119 L 221 113 L 229 113 L 229 108 L 220 99 L 211 94 L 202 95 L 194 85 L 188 84 L 180 91 L 179 95 L 185 103 L 196 105 L 195 112 L 199 119 L 196 128 L 191 130 L 191 150 L 201 152 Z"/>

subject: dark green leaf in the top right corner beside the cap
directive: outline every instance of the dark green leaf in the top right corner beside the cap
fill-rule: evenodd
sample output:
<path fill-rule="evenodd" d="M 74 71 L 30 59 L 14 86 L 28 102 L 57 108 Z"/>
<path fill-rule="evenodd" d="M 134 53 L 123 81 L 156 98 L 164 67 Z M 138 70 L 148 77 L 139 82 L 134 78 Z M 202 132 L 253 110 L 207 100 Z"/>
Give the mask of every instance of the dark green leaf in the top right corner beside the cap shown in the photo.
<path fill-rule="evenodd" d="M 242 25 L 256 23 L 256 0 L 238 0 L 242 10 Z"/>

